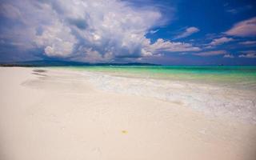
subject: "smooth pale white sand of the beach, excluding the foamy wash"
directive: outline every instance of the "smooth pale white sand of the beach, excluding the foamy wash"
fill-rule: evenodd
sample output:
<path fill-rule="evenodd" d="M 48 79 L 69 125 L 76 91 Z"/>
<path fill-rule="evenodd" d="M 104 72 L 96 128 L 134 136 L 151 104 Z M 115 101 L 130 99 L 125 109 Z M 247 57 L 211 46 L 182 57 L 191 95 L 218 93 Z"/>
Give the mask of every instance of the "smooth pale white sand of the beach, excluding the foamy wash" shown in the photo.
<path fill-rule="evenodd" d="M 0 68 L 1 160 L 256 158 L 254 124 L 33 70 Z"/>

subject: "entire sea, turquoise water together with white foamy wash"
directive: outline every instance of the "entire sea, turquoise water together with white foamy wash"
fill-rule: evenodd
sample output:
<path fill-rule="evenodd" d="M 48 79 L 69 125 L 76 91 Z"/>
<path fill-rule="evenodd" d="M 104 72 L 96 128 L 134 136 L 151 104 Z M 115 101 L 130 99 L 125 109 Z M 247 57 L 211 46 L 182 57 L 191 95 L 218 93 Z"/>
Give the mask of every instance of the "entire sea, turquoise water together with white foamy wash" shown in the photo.
<path fill-rule="evenodd" d="M 79 66 L 101 90 L 158 98 L 256 123 L 256 66 Z"/>

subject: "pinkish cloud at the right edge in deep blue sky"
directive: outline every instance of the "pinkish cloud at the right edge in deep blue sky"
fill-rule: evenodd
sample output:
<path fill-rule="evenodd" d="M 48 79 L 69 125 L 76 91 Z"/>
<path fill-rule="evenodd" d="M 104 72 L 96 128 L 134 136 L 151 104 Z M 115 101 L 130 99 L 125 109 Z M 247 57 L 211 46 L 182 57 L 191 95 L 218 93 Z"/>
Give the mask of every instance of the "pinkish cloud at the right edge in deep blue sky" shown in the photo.
<path fill-rule="evenodd" d="M 256 36 L 256 17 L 236 23 L 230 30 L 226 31 L 226 34 L 238 37 Z"/>

